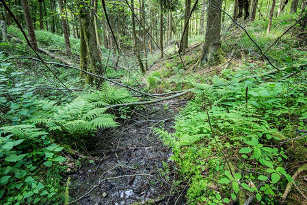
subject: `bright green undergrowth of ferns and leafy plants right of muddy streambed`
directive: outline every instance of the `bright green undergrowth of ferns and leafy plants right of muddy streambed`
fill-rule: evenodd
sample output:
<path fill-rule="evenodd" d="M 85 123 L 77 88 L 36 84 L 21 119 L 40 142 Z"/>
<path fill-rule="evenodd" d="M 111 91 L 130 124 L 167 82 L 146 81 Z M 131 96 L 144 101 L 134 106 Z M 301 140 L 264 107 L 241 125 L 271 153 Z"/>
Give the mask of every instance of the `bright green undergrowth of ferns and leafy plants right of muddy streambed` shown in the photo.
<path fill-rule="evenodd" d="M 242 71 L 232 80 L 192 83 L 195 98 L 176 118 L 176 133 L 155 129 L 172 148 L 170 160 L 181 180 L 189 183 L 191 204 L 243 204 L 249 195 L 254 202 L 275 204 L 292 180 L 285 162 L 293 150 L 281 142 L 297 137 L 296 128 L 307 128 L 306 70 L 302 79 L 286 78 L 288 70 L 239 83 L 247 74 Z M 297 154 L 302 153 L 306 149 Z"/>

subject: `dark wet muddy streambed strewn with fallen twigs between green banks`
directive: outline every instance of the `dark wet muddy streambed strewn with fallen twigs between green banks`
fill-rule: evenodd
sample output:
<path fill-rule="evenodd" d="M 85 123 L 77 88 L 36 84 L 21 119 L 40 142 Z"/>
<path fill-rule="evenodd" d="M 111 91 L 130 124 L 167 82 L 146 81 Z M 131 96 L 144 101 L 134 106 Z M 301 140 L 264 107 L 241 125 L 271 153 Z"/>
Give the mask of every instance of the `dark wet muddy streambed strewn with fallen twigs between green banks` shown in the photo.
<path fill-rule="evenodd" d="M 167 103 L 168 106 L 161 103 L 135 109 L 133 117 L 120 127 L 98 133 L 98 143 L 95 141 L 91 153 L 101 161 L 71 175 L 70 195 L 76 199 L 95 184 L 101 184 L 76 204 L 120 205 L 149 200 L 155 204 L 175 204 L 176 197 L 170 194 L 174 178 L 172 162 L 168 161 L 171 150 L 152 133 L 152 126 L 172 132 L 173 117 L 185 101 L 174 99 Z M 169 174 L 163 162 L 168 164 Z"/>

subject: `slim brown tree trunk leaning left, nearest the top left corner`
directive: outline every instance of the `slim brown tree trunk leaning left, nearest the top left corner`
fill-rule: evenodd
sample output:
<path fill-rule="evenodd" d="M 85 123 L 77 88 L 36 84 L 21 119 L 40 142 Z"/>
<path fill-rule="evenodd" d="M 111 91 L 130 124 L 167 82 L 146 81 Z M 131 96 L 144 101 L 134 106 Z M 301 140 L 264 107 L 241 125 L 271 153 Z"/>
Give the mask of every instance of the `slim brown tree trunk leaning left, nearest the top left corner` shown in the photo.
<path fill-rule="evenodd" d="M 23 5 L 23 15 L 25 16 L 25 24 L 27 25 L 27 31 L 29 35 L 29 40 L 34 51 L 38 51 L 38 44 L 36 42 L 36 36 L 34 32 L 34 26 L 31 19 L 31 14 L 29 10 L 29 3 L 27 0 L 21 0 Z"/>

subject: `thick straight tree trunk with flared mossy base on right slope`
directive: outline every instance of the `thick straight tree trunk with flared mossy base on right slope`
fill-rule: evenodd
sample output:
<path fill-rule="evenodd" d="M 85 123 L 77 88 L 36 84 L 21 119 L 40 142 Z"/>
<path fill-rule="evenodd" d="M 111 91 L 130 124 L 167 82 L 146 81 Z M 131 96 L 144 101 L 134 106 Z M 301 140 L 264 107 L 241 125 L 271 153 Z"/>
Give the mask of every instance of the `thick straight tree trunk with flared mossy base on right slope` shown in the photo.
<path fill-rule="evenodd" d="M 200 56 L 200 64 L 208 63 L 213 54 L 221 48 L 221 11 L 218 8 L 222 7 L 222 0 L 209 1 L 207 12 L 208 21 L 206 24 L 206 36 L 202 55 Z"/>

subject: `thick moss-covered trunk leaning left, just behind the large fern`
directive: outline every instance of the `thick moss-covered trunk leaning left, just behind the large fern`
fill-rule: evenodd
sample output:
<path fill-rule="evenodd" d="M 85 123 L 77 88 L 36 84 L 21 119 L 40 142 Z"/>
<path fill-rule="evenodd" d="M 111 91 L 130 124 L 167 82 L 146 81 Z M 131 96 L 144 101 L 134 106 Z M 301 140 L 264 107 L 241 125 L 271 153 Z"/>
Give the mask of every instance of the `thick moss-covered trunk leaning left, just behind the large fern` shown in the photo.
<path fill-rule="evenodd" d="M 88 71 L 94 74 L 104 75 L 103 65 L 101 64 L 102 55 L 98 48 L 96 34 L 94 29 L 93 15 L 86 7 L 90 7 L 86 1 L 81 2 L 83 7 L 80 7 L 81 27 L 88 51 Z M 81 32 L 80 32 L 81 33 Z M 88 79 L 87 83 L 93 83 L 92 79 Z M 101 81 L 96 79 L 95 84 L 99 85 Z"/>

